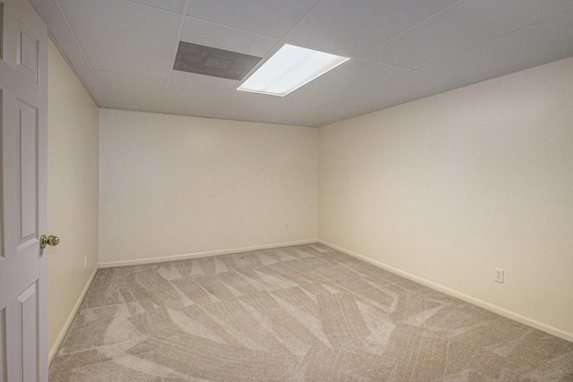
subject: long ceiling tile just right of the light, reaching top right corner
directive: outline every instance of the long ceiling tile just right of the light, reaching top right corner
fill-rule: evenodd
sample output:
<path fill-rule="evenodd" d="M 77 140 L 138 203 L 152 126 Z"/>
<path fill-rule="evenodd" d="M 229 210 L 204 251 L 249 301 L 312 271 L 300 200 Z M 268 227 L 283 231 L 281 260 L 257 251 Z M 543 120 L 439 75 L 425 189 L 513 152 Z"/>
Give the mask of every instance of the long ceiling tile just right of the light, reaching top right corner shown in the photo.
<path fill-rule="evenodd" d="M 364 57 L 419 69 L 572 7 L 570 0 L 462 1 L 374 48 Z"/>

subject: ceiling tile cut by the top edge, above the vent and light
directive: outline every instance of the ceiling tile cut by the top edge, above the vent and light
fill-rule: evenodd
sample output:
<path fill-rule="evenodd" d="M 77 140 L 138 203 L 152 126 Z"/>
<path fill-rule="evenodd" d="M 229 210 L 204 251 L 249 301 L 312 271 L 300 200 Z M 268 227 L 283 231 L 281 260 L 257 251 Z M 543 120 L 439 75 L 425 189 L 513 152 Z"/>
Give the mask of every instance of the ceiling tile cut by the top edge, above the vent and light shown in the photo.
<path fill-rule="evenodd" d="M 319 0 L 191 0 L 189 16 L 282 38 Z"/>

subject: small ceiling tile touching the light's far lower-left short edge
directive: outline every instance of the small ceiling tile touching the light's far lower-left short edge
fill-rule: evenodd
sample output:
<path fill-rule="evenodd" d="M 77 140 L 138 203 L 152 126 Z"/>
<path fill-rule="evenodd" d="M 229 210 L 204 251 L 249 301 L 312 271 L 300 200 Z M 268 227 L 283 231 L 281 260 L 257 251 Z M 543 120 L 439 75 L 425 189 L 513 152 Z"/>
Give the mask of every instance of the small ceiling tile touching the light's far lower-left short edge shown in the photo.
<path fill-rule="evenodd" d="M 216 115 L 250 118 L 275 101 L 275 96 L 232 90 L 211 112 Z"/>

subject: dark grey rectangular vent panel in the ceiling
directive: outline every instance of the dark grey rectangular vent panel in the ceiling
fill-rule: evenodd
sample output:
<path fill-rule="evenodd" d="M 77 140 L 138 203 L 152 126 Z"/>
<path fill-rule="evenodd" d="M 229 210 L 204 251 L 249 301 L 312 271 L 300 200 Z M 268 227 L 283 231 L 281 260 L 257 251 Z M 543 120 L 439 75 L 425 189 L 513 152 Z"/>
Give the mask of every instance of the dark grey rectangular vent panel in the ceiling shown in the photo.
<path fill-rule="evenodd" d="M 262 57 L 179 41 L 173 69 L 241 81 Z"/>

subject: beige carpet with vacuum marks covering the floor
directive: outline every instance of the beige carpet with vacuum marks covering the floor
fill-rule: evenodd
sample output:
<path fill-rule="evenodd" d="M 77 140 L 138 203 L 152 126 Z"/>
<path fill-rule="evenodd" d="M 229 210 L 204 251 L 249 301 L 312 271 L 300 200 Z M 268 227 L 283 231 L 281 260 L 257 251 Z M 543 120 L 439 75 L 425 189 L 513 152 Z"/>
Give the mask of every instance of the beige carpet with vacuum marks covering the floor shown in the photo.
<path fill-rule="evenodd" d="M 312 244 L 99 270 L 50 381 L 573 381 L 573 344 Z"/>

